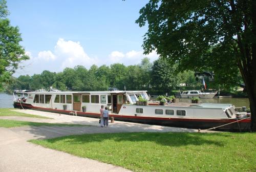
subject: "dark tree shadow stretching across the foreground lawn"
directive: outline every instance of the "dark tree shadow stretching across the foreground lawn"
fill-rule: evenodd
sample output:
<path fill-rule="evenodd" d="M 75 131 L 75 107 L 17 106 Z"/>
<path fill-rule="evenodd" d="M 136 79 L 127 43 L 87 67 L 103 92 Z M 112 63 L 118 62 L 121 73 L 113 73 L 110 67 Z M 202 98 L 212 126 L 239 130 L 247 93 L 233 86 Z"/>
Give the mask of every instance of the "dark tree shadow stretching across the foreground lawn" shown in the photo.
<path fill-rule="evenodd" d="M 184 146 L 184 145 L 217 145 L 224 146 L 223 141 L 209 139 L 209 135 L 218 133 L 111 133 L 111 134 L 86 134 L 76 136 L 65 136 L 55 139 L 47 139 L 49 143 L 63 141 L 68 144 L 87 144 L 90 142 L 102 142 L 104 140 L 114 140 L 115 142 L 155 142 L 165 146 Z M 132 144 L 132 143 L 131 143 Z"/>

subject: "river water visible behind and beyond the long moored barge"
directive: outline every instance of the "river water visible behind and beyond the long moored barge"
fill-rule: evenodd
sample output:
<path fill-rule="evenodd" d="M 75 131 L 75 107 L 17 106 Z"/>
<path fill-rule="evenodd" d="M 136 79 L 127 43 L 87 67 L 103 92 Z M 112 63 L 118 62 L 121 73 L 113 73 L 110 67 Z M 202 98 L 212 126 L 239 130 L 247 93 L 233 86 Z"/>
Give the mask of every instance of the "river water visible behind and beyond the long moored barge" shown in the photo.
<path fill-rule="evenodd" d="M 179 102 L 191 102 L 189 98 L 179 98 Z M 236 107 L 246 106 L 249 107 L 248 98 L 207 98 L 200 99 L 199 102 L 203 103 L 230 103 L 234 104 Z M 13 95 L 0 93 L 0 108 L 3 107 L 13 107 Z"/>

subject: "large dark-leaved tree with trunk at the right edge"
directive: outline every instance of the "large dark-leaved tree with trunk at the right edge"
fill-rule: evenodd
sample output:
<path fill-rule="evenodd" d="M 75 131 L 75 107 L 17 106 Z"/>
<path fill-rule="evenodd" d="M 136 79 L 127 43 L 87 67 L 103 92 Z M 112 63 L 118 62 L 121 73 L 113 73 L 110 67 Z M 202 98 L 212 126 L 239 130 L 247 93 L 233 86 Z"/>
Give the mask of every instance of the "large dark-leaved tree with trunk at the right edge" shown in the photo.
<path fill-rule="evenodd" d="M 150 0 L 136 23 L 148 23 L 144 53 L 153 50 L 179 69 L 211 68 L 232 78 L 239 68 L 250 101 L 251 130 L 256 131 L 256 1 Z M 222 80 L 225 82 L 225 80 Z"/>

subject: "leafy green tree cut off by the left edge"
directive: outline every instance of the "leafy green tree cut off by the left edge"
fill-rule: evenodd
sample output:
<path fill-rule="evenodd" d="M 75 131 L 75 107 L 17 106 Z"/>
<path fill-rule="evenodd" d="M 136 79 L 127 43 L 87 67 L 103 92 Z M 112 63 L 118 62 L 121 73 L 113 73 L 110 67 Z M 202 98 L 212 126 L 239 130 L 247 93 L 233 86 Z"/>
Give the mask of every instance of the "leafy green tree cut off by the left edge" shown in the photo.
<path fill-rule="evenodd" d="M 18 64 L 29 57 L 19 45 L 22 41 L 18 27 L 10 26 L 10 20 L 6 18 L 9 12 L 6 1 L 0 0 L 0 81 L 5 82 L 6 76 L 15 72 Z M 0 82 L 0 89 L 2 88 Z"/>

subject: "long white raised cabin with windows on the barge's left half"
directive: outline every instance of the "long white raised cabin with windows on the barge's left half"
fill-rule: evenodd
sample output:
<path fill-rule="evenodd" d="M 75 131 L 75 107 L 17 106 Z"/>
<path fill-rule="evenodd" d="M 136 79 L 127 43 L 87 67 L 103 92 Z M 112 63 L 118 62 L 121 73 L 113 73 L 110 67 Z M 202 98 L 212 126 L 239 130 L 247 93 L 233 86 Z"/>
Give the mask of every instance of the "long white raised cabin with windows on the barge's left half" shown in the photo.
<path fill-rule="evenodd" d="M 146 91 L 105 91 L 105 92 L 30 92 L 27 103 L 52 109 L 98 112 L 101 105 L 108 106 L 112 113 L 119 113 L 122 104 L 135 104 L 138 97 L 149 99 Z"/>

